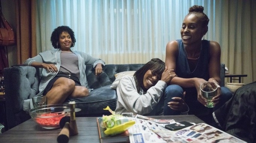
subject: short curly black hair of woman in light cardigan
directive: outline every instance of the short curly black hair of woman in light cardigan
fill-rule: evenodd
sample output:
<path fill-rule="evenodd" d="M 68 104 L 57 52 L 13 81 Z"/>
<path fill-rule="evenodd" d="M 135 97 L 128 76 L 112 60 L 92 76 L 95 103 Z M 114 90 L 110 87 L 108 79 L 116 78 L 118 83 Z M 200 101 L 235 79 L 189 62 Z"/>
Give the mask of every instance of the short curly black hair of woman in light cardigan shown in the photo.
<path fill-rule="evenodd" d="M 59 49 L 60 47 L 57 47 L 57 43 L 59 42 L 59 35 L 62 32 L 67 32 L 70 35 L 70 38 L 72 40 L 72 44 L 71 47 L 74 47 L 75 43 L 76 43 L 76 38 L 74 35 L 74 31 L 68 27 L 68 26 L 59 26 L 57 28 L 55 28 L 52 32 L 52 36 L 51 36 L 51 42 L 52 42 L 52 46 L 55 49 Z"/>

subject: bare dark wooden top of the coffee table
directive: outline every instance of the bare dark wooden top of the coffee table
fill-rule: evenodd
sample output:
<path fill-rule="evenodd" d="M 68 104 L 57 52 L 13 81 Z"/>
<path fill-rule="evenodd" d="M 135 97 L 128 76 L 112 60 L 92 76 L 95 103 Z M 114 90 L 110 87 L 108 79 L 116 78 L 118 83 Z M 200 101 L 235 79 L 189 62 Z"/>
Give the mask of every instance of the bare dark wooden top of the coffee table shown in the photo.
<path fill-rule="evenodd" d="M 196 124 L 203 122 L 195 115 L 150 117 L 156 119 L 174 119 L 176 122 L 188 121 Z M 77 117 L 76 122 L 79 134 L 71 136 L 69 143 L 100 143 L 96 117 Z M 54 130 L 41 128 L 32 119 L 29 119 L 0 134 L 0 143 L 57 143 L 57 136 L 60 131 L 60 128 Z"/>

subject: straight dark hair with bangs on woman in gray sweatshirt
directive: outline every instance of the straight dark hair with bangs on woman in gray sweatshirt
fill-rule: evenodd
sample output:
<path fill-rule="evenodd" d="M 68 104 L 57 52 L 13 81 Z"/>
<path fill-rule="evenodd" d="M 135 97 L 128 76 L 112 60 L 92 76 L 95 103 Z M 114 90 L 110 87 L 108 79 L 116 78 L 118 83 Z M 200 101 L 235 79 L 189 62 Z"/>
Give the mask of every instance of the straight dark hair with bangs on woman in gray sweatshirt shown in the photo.
<path fill-rule="evenodd" d="M 138 93 L 139 89 L 143 86 L 143 78 L 148 70 L 160 75 L 161 78 L 165 70 L 165 63 L 161 59 L 153 58 L 134 73 L 133 77 Z"/>

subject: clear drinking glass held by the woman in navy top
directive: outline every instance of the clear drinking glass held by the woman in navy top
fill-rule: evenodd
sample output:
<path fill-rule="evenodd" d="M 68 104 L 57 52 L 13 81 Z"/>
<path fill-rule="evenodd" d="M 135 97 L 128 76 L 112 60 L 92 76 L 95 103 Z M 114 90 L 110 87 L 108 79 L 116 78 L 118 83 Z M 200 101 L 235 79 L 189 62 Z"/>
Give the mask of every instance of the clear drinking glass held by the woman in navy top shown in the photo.
<path fill-rule="evenodd" d="M 203 97 L 207 100 L 206 107 L 213 108 L 212 98 L 217 95 L 218 85 L 212 81 L 206 81 L 200 86 Z"/>

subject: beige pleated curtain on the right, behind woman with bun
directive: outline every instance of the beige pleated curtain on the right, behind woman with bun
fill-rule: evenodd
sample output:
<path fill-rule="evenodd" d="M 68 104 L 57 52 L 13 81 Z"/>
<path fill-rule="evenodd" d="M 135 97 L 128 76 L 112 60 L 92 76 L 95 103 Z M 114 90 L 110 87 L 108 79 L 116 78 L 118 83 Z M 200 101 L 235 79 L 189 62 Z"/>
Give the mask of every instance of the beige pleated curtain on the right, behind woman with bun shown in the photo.
<path fill-rule="evenodd" d="M 255 0 L 217 0 L 216 3 L 219 3 L 216 17 L 220 16 L 221 19 L 216 24 L 221 61 L 230 74 L 247 74 L 247 77 L 242 77 L 242 83 L 256 81 Z M 229 82 L 227 78 L 225 81 Z"/>

